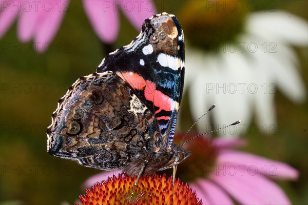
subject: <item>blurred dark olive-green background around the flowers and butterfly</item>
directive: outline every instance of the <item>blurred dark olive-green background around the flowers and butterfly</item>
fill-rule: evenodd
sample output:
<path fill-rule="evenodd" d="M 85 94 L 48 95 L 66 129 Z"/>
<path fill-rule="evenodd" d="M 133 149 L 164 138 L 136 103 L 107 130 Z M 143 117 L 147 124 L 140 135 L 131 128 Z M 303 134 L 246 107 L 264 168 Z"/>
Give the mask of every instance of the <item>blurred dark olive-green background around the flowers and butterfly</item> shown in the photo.
<path fill-rule="evenodd" d="M 263 1 L 260 1 L 260 4 Z M 307 1 L 271 1 L 282 9 L 308 19 Z M 71 1 L 50 51 L 37 53 L 32 43 L 23 49 L 16 22 L 1 39 L 1 191 L 0 202 L 21 204 L 72 204 L 84 193 L 81 185 L 99 170 L 56 158 L 46 152 L 46 128 L 57 100 L 80 76 L 95 72 L 106 50 L 95 35 L 81 1 Z M 155 1 L 158 13 L 177 15 L 181 22 L 185 1 Z M 261 9 L 261 7 L 260 7 Z M 121 12 L 120 12 L 121 13 Z M 127 45 L 135 30 L 121 13 L 121 28 L 112 49 Z M 187 11 L 186 15 L 190 15 Z M 185 27 L 183 27 L 185 32 Z M 187 39 L 189 40 L 189 39 Z M 12 49 L 4 49 L 9 43 Z M 307 85 L 307 47 L 294 48 L 300 73 Z M 189 68 L 186 68 L 189 69 Z M 286 79 L 287 80 L 287 79 Z M 186 125 L 192 124 L 187 100 L 181 107 Z M 288 163 L 300 172 L 295 182 L 280 182 L 294 204 L 308 202 L 307 101 L 294 105 L 279 91 L 275 95 L 277 133 L 247 134 L 245 151 Z M 178 127 L 185 131 L 186 127 Z"/>

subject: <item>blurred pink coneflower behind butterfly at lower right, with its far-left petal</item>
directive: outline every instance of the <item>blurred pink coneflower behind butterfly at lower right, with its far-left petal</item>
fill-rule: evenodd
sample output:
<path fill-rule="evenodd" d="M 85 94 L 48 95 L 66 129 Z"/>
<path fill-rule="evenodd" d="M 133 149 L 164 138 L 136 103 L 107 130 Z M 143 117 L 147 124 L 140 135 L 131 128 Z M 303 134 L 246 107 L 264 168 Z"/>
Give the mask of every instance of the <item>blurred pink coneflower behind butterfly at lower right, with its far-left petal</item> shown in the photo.
<path fill-rule="evenodd" d="M 190 155 L 178 167 L 177 177 L 189 182 L 203 204 L 291 204 L 283 190 L 272 179 L 295 180 L 298 171 L 285 163 L 231 148 L 246 141 L 236 138 L 191 140 L 186 150 Z M 120 170 L 100 173 L 86 180 L 85 187 L 117 176 Z M 196 178 L 197 176 L 197 178 Z"/>

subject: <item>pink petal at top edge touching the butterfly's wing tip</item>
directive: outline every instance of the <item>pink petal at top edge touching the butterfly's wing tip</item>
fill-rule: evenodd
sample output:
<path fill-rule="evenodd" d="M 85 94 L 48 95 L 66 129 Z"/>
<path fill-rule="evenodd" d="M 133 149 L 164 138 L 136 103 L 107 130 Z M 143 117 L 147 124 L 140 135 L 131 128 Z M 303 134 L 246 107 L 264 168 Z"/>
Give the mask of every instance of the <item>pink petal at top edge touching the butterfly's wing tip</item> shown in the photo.
<path fill-rule="evenodd" d="M 130 23 L 139 31 L 146 18 L 157 13 L 156 6 L 151 0 L 144 1 L 119 1 L 122 11 Z"/>

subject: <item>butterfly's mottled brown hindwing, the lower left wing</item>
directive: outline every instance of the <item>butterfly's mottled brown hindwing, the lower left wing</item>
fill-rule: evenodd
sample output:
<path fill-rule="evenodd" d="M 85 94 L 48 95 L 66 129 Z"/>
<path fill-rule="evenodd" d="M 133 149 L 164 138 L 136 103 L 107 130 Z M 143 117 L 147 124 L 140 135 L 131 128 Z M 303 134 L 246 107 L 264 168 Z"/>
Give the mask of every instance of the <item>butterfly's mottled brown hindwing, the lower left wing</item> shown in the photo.
<path fill-rule="evenodd" d="M 159 133 L 153 114 L 127 83 L 112 72 L 94 73 L 79 78 L 60 99 L 47 129 L 47 150 L 87 167 L 121 169 L 143 149 L 160 148 Z"/>

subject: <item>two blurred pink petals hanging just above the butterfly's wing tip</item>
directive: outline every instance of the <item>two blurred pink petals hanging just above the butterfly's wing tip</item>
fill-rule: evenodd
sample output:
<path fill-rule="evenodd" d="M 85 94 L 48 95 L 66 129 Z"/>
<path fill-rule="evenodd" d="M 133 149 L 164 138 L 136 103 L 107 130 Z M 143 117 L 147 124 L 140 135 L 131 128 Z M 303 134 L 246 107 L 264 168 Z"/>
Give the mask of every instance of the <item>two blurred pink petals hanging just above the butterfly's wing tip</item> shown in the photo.
<path fill-rule="evenodd" d="M 113 43 L 118 37 L 121 9 L 130 23 L 139 31 L 144 19 L 156 14 L 155 4 L 145 1 L 97 1 L 84 0 L 84 8 L 94 31 L 102 42 Z"/>

